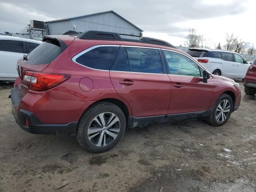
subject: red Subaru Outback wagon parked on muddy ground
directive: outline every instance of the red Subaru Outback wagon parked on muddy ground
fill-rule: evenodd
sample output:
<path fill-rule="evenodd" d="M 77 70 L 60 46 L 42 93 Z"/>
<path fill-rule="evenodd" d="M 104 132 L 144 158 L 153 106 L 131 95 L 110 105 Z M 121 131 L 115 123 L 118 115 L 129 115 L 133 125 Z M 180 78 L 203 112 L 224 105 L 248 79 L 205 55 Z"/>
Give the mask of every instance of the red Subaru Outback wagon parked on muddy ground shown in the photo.
<path fill-rule="evenodd" d="M 116 145 L 127 127 L 197 117 L 221 126 L 238 109 L 239 84 L 167 42 L 133 38 L 99 31 L 45 36 L 18 60 L 16 122 L 33 134 L 76 135 L 97 153 Z"/>

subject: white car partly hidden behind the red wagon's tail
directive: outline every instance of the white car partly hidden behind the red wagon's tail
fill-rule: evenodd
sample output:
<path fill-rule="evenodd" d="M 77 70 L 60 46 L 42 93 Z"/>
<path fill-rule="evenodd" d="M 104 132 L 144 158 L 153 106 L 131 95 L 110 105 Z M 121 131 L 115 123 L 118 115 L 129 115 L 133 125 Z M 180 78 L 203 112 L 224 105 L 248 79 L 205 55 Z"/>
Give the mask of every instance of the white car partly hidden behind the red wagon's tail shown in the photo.
<path fill-rule="evenodd" d="M 0 81 L 15 81 L 17 61 L 42 42 L 32 39 L 0 35 Z"/>

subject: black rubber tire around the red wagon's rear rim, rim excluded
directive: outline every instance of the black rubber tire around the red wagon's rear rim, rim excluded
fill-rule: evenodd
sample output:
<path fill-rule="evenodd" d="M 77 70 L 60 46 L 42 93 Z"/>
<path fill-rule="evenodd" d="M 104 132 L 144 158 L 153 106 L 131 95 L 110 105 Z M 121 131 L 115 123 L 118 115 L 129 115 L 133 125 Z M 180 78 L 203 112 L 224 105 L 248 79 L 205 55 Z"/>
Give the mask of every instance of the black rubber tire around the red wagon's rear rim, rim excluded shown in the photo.
<path fill-rule="evenodd" d="M 119 118 L 120 130 L 117 137 L 112 142 L 110 142 L 110 144 L 106 146 L 95 146 L 88 138 L 88 128 L 95 117 L 105 112 L 114 113 Z M 124 136 L 125 130 L 126 118 L 124 112 L 118 106 L 110 102 L 98 102 L 92 107 L 88 108 L 88 110 L 86 110 L 86 112 L 80 118 L 78 128 L 76 130 L 76 139 L 78 140 L 79 144 L 89 152 L 101 153 L 110 150 L 113 146 L 115 146 Z"/>

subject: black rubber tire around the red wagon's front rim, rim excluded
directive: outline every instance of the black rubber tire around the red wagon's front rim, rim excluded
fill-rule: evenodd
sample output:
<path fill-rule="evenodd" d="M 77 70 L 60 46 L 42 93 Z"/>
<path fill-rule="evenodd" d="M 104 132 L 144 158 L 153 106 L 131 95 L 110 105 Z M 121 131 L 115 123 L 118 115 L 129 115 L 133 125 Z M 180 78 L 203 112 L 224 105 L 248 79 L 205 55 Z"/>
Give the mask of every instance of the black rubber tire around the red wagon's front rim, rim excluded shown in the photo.
<path fill-rule="evenodd" d="M 223 102 L 224 100 L 229 101 L 230 111 L 229 111 L 228 115 L 226 116 L 226 119 L 223 122 L 218 122 L 217 119 L 216 119 L 216 111 L 217 111 L 217 108 L 218 108 L 219 104 L 221 102 Z M 233 100 L 232 100 L 232 98 L 228 94 L 222 94 L 216 100 L 210 116 L 206 117 L 205 120 L 206 120 L 206 122 L 208 122 L 212 126 L 222 126 L 223 124 L 225 124 L 228 121 L 232 112 L 233 112 Z"/>

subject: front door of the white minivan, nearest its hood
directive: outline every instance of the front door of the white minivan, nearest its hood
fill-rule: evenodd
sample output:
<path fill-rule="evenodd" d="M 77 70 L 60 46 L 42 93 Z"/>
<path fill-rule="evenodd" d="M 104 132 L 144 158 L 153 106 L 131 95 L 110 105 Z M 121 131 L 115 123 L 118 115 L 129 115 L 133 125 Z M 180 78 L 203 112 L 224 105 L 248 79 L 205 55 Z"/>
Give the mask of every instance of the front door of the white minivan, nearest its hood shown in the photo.
<path fill-rule="evenodd" d="M 246 75 L 246 72 L 248 70 L 248 67 L 250 64 L 244 63 L 244 58 L 238 54 L 234 54 L 235 64 L 236 64 L 236 74 L 235 78 L 244 78 Z"/>

